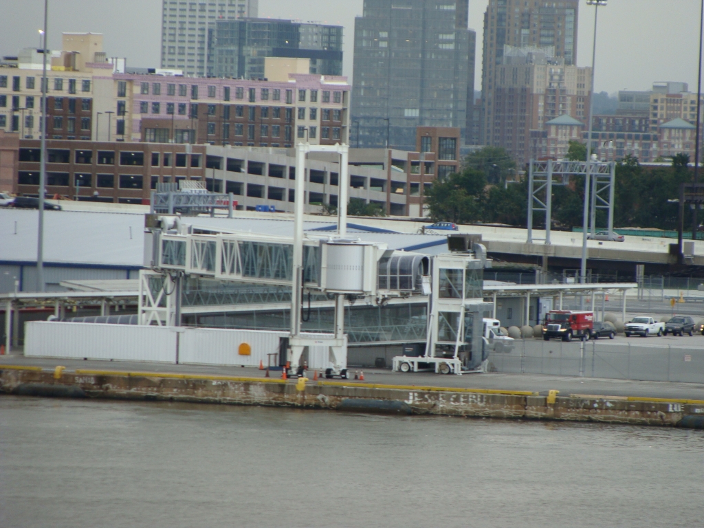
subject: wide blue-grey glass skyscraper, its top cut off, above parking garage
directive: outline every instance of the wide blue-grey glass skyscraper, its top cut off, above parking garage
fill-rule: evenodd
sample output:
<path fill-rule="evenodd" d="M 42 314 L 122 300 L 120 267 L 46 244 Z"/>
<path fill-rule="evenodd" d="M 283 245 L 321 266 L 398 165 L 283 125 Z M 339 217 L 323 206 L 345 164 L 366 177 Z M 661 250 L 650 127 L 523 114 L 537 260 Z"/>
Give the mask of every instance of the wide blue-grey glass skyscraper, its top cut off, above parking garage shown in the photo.
<path fill-rule="evenodd" d="M 351 123 L 360 146 L 413 150 L 417 126 L 458 127 L 466 141 L 476 40 L 468 6 L 365 0 L 355 21 Z"/>

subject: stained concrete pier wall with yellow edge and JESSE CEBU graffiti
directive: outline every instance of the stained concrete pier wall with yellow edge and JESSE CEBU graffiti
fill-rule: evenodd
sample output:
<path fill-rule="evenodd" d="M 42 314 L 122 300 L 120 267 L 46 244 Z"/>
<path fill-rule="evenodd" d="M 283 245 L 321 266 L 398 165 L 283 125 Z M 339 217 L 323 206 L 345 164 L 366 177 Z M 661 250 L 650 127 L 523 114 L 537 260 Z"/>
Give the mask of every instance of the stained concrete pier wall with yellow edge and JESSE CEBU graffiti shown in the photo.
<path fill-rule="evenodd" d="M 0 367 L 0 393 L 125 400 L 289 406 L 413 415 L 676 426 L 704 401 L 541 395 L 527 391 L 345 384 L 215 375 Z"/>

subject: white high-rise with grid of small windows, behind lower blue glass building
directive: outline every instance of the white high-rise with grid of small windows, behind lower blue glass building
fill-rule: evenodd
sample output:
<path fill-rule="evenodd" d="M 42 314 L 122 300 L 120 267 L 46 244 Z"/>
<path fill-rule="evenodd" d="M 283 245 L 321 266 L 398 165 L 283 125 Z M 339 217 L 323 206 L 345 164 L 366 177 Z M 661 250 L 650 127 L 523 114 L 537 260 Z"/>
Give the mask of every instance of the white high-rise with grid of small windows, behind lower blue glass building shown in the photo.
<path fill-rule="evenodd" d="M 163 0 L 161 67 L 204 77 L 208 61 L 208 24 L 256 17 L 258 0 Z"/>

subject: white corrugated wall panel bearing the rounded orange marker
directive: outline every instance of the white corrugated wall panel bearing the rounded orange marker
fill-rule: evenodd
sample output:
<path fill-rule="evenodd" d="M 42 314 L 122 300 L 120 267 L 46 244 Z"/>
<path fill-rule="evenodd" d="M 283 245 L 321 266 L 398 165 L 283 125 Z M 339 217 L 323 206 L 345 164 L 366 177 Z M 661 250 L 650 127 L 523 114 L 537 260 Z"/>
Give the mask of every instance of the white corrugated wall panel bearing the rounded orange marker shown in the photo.
<path fill-rule="evenodd" d="M 179 363 L 206 363 L 210 365 L 267 365 L 267 354 L 279 353 L 279 338 L 288 332 L 265 330 L 232 330 L 215 328 L 185 328 L 179 342 Z M 250 356 L 240 356 L 239 346 L 251 346 Z M 278 356 L 272 365 L 278 365 Z"/>

